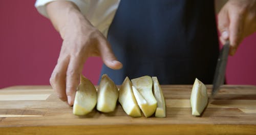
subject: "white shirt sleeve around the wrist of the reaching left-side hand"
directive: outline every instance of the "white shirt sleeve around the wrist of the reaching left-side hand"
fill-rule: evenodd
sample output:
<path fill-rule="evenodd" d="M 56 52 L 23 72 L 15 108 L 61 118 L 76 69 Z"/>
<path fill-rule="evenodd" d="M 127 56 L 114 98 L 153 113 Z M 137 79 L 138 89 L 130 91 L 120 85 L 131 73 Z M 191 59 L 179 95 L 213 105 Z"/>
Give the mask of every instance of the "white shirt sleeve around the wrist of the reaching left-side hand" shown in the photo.
<path fill-rule="evenodd" d="M 37 11 L 48 17 L 46 4 L 61 0 L 37 0 L 35 7 Z M 120 0 L 62 0 L 73 2 L 81 13 L 90 20 L 94 27 L 98 28 L 104 36 L 107 36 L 109 27 L 115 16 Z"/>

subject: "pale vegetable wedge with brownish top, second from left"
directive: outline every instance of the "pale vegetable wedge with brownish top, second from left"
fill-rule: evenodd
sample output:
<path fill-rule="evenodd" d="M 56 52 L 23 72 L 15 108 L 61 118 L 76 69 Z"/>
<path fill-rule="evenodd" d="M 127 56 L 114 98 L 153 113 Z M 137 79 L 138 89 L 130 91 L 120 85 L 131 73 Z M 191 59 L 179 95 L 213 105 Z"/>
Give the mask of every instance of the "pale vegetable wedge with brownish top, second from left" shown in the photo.
<path fill-rule="evenodd" d="M 97 110 L 103 113 L 114 111 L 119 96 L 118 88 L 108 75 L 102 75 L 97 92 Z"/>

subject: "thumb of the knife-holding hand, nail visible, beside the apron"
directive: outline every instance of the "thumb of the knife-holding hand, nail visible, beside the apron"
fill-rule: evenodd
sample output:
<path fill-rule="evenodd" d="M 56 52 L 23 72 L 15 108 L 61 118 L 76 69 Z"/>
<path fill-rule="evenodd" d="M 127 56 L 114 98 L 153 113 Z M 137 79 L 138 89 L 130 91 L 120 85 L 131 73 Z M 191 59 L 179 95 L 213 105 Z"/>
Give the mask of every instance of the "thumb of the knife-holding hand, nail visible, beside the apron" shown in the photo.
<path fill-rule="evenodd" d="M 225 44 L 226 40 L 229 38 L 229 24 L 228 11 L 223 7 L 218 14 L 218 29 L 221 33 L 220 41 L 222 44 Z"/>

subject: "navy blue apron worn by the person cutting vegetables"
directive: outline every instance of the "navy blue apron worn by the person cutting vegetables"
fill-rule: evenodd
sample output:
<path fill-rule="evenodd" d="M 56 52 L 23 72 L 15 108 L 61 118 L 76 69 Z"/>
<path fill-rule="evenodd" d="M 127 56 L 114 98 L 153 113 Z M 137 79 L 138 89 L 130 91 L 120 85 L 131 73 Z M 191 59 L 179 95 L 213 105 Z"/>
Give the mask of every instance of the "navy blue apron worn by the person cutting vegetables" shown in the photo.
<path fill-rule="evenodd" d="M 116 84 L 157 76 L 160 84 L 211 84 L 219 45 L 214 1 L 121 0 L 108 40 L 121 70 L 103 65 Z"/>

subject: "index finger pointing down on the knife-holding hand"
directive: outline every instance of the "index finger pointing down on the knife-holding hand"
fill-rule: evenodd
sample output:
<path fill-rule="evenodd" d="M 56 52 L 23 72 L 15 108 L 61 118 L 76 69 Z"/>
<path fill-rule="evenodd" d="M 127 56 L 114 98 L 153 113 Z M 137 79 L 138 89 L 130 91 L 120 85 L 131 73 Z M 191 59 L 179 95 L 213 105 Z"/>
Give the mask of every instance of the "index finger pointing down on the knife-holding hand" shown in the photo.
<path fill-rule="evenodd" d="M 241 37 L 242 37 L 242 30 L 243 30 L 243 25 L 244 25 L 244 20 L 243 16 L 239 13 L 230 13 L 230 26 L 229 26 L 229 31 L 230 31 L 230 55 L 234 55 L 236 53 L 237 48 L 241 42 Z"/>

